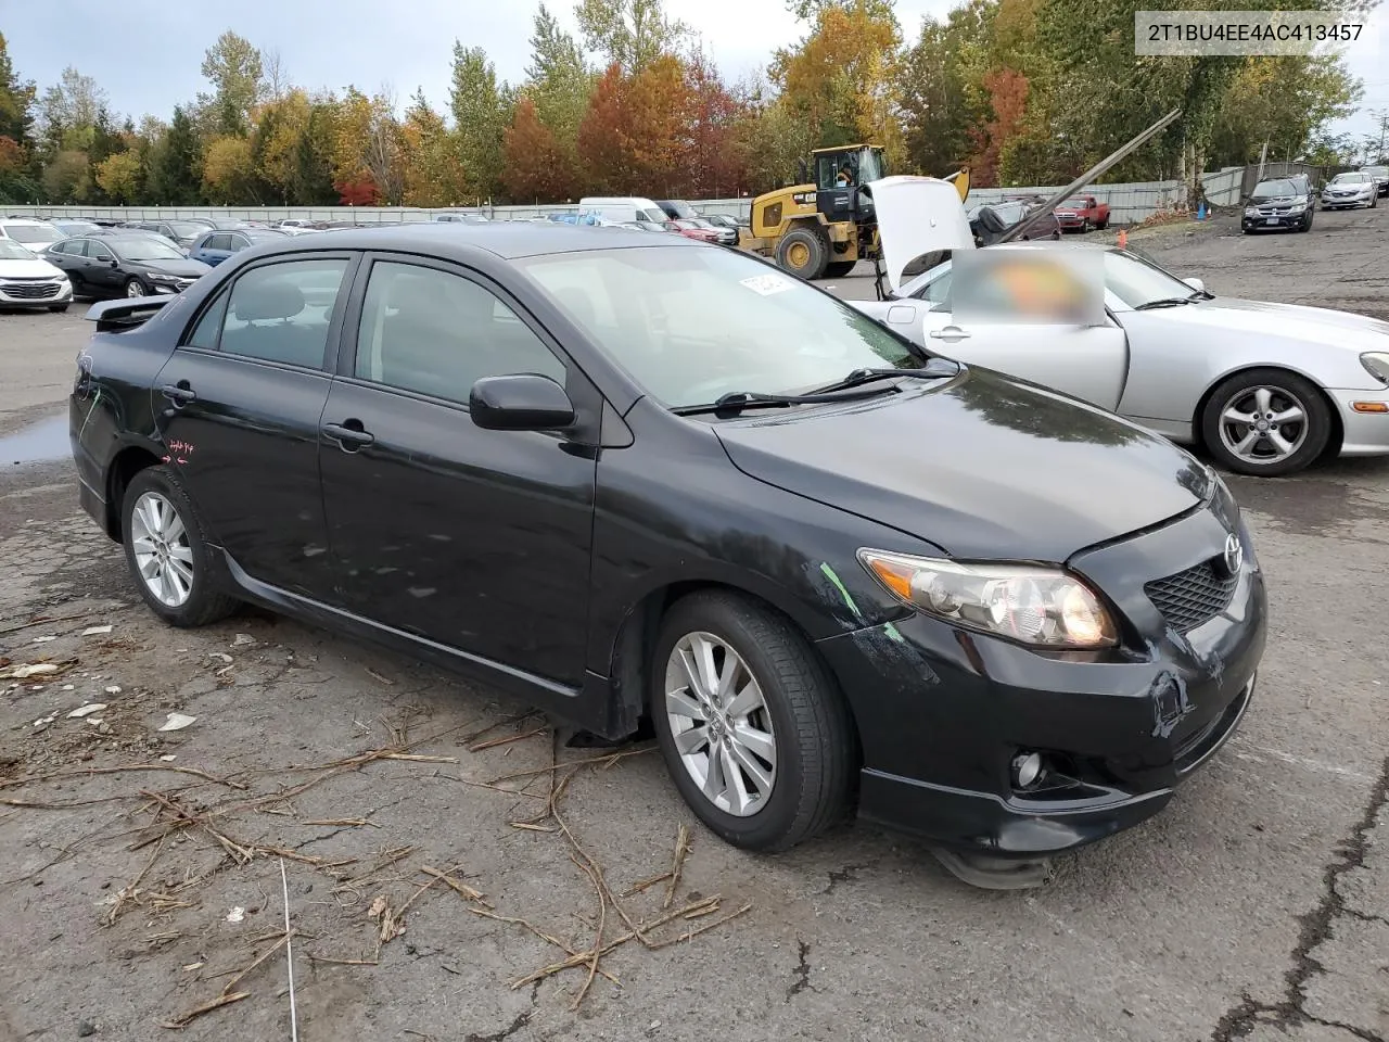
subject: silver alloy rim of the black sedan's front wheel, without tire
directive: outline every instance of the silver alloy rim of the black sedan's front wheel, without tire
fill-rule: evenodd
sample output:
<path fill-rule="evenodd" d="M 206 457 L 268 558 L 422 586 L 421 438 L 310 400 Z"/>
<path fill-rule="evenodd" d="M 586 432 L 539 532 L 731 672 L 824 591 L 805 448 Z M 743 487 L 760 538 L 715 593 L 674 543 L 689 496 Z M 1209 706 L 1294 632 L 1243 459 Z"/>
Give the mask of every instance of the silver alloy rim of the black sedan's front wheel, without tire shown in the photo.
<path fill-rule="evenodd" d="M 750 817 L 776 785 L 776 735 L 761 685 L 713 634 L 686 634 L 665 663 L 665 716 L 685 770 L 704 799 Z"/>

